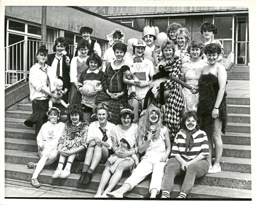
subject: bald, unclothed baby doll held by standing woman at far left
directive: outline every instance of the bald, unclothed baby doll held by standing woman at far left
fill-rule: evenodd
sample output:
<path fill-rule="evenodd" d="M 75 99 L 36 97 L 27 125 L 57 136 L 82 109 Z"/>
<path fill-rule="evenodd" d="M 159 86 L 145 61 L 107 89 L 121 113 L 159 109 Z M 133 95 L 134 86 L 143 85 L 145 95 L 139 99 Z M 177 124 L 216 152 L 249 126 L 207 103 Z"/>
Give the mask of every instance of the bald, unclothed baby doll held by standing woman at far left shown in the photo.
<path fill-rule="evenodd" d="M 51 92 L 52 93 L 57 93 L 60 97 L 59 97 L 59 100 L 55 100 L 53 97 L 51 97 L 51 99 L 49 100 L 49 110 L 51 109 L 53 103 L 62 104 L 65 108 L 67 108 L 69 103 L 66 104 L 64 102 L 64 100 L 61 100 L 61 97 L 62 97 L 63 94 L 67 93 L 68 89 L 65 88 L 65 90 L 62 91 L 63 82 L 60 79 L 56 79 L 54 81 L 54 86 L 55 86 L 55 89 L 52 90 Z"/>

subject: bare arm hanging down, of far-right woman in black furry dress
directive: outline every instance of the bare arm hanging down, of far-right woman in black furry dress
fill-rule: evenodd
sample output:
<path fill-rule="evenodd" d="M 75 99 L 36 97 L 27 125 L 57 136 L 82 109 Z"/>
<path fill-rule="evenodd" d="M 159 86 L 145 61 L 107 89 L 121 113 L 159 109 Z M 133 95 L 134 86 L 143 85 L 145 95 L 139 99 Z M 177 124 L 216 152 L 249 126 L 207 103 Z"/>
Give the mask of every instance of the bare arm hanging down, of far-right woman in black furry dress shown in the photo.
<path fill-rule="evenodd" d="M 219 85 L 220 89 L 218 90 L 217 99 L 216 99 L 216 102 L 214 104 L 214 108 L 212 111 L 212 117 L 214 119 L 216 119 L 218 117 L 218 111 L 219 111 L 218 109 L 215 109 L 215 108 L 218 108 L 220 106 L 221 101 L 224 96 L 224 93 L 225 93 L 225 89 L 226 89 L 227 72 L 223 65 L 218 65 L 217 75 L 218 75 L 218 85 Z"/>

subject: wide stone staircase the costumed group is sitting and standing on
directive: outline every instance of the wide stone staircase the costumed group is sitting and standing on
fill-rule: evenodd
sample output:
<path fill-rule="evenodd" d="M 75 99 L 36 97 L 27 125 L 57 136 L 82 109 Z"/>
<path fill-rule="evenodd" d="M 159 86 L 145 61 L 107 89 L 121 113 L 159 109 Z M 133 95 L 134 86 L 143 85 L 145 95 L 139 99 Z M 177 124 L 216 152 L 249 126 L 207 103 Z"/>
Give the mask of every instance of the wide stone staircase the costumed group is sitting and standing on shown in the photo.
<path fill-rule="evenodd" d="M 251 191 L 251 135 L 250 135 L 250 99 L 227 99 L 228 124 L 227 133 L 222 135 L 223 153 L 221 157 L 222 172 L 206 174 L 196 179 L 189 198 L 252 198 Z M 23 122 L 32 112 L 28 99 L 15 108 L 5 112 L 5 178 L 30 181 L 34 169 L 28 169 L 28 162 L 38 162 L 35 128 L 27 128 Z M 78 185 L 78 174 L 71 174 L 67 179 L 52 179 L 51 176 L 58 161 L 46 166 L 39 174 L 38 181 L 52 186 L 71 187 L 84 196 L 96 193 L 104 165 L 99 164 L 89 185 Z M 74 161 L 72 170 L 82 169 L 83 162 Z M 124 172 L 116 188 L 119 188 L 129 172 Z M 139 183 L 125 197 L 148 197 L 151 176 Z M 176 177 L 171 197 L 177 197 L 184 177 Z M 90 195 L 91 196 L 91 195 Z M 8 196 L 5 196 L 8 197 Z"/>

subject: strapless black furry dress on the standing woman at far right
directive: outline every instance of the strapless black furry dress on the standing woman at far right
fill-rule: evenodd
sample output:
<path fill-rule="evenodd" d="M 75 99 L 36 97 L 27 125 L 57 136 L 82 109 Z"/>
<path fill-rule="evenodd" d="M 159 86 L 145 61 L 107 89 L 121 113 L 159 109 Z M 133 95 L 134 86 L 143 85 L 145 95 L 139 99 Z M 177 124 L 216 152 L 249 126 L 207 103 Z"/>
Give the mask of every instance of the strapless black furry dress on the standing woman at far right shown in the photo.
<path fill-rule="evenodd" d="M 212 110 L 217 99 L 219 90 L 218 78 L 211 73 L 201 75 L 198 82 L 198 108 L 197 114 L 201 119 L 200 129 L 204 130 L 206 134 L 213 133 L 214 119 L 212 118 Z M 225 91 L 221 104 L 218 108 L 219 118 L 222 120 L 221 132 L 225 134 L 227 124 L 227 111 L 226 111 L 226 96 Z"/>

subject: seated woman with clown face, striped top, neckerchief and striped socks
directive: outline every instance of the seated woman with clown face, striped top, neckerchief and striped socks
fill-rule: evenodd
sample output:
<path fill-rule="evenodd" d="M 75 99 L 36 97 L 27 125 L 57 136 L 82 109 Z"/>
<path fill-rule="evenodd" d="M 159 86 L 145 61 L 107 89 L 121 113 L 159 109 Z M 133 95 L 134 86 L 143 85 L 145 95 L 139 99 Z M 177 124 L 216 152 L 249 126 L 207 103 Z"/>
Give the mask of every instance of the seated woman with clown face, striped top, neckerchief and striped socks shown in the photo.
<path fill-rule="evenodd" d="M 186 198 L 195 178 L 204 176 L 209 169 L 209 163 L 205 160 L 209 155 L 208 139 L 205 132 L 199 129 L 196 111 L 185 112 L 182 121 L 185 129 L 181 129 L 174 138 L 171 158 L 164 166 L 161 198 L 170 198 L 174 178 L 180 175 L 185 175 L 185 178 L 177 198 Z"/>

